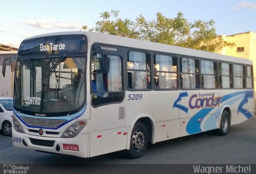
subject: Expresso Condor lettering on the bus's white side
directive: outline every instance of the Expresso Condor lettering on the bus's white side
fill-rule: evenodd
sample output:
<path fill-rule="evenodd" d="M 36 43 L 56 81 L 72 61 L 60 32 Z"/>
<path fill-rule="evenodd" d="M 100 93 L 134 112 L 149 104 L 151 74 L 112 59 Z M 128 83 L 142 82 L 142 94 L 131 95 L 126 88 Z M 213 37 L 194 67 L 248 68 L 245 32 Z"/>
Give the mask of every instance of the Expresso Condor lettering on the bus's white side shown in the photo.
<path fill-rule="evenodd" d="M 216 107 L 220 104 L 222 97 L 214 97 L 214 93 L 194 94 L 190 97 L 188 105 L 191 109 L 203 107 Z"/>

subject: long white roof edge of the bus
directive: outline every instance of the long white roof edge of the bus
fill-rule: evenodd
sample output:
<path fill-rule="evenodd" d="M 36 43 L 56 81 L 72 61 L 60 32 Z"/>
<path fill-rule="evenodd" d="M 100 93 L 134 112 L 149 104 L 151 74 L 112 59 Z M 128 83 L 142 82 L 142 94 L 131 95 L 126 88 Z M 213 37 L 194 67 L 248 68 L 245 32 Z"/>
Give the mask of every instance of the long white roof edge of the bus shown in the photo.
<path fill-rule="evenodd" d="M 121 36 L 114 36 L 110 34 L 102 34 L 97 32 L 57 32 L 57 33 L 50 33 L 50 34 L 43 34 L 39 36 L 34 36 L 31 38 L 27 38 L 26 40 L 33 39 L 33 38 L 40 38 L 45 36 L 56 36 L 56 35 L 72 35 L 72 34 L 84 34 L 88 38 L 89 43 L 107 43 L 112 45 L 120 45 L 125 47 L 134 47 L 139 49 L 146 49 L 152 51 L 160 51 L 165 53 L 174 53 L 179 55 L 187 55 L 192 57 L 201 57 L 201 58 L 208 58 L 208 59 L 216 59 L 222 61 L 231 61 L 236 63 L 244 63 L 252 65 L 252 61 L 250 59 L 239 58 L 239 57 L 232 57 L 217 53 L 212 53 L 208 51 L 200 51 L 196 49 L 190 49 L 185 47 L 178 47 L 174 45 L 167 45 L 163 43 L 155 43 L 149 42 L 144 40 L 137 40 L 132 38 L 125 38 Z"/>

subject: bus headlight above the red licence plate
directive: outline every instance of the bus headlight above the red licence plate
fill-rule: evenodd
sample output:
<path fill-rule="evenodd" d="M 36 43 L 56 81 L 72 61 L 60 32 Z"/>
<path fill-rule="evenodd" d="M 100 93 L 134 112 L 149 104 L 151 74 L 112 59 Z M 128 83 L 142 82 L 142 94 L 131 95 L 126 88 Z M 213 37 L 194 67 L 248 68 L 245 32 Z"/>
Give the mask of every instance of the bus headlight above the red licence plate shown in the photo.
<path fill-rule="evenodd" d="M 82 120 L 74 123 L 63 132 L 61 137 L 63 138 L 75 137 L 85 127 L 86 123 L 87 123 L 86 120 Z"/>

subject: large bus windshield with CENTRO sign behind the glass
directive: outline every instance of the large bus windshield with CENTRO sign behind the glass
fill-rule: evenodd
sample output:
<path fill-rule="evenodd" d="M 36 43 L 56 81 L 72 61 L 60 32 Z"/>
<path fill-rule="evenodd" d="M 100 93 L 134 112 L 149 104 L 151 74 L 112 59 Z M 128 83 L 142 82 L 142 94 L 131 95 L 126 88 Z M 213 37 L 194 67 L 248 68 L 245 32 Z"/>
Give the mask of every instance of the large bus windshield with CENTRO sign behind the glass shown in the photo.
<path fill-rule="evenodd" d="M 85 65 L 85 57 L 66 54 L 22 57 L 16 62 L 15 107 L 38 116 L 77 111 L 85 102 Z"/>

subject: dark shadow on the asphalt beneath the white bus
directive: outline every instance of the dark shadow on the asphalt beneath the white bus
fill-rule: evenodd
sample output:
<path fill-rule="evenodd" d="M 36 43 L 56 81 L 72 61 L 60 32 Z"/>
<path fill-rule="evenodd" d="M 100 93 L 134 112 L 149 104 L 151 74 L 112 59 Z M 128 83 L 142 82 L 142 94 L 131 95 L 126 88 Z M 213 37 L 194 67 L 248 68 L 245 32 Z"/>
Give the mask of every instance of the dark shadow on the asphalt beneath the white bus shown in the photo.
<path fill-rule="evenodd" d="M 225 142 L 227 142 L 228 140 L 232 140 L 232 138 L 235 136 L 240 136 L 240 134 L 244 131 L 250 132 L 247 130 L 247 128 L 245 129 L 244 126 L 248 123 L 250 124 L 250 121 L 245 121 L 242 124 L 233 125 L 230 127 L 230 132 L 226 136 L 218 136 L 216 134 L 216 130 L 209 130 L 198 134 L 192 134 L 189 136 L 157 142 L 155 144 L 148 143 L 148 147 L 144 156 L 135 160 L 128 159 L 124 153 L 125 150 L 122 150 L 118 152 L 103 154 L 100 156 L 94 156 L 91 158 L 81 158 L 78 156 L 70 156 L 65 154 L 56 155 L 35 152 L 33 161 L 40 162 L 40 164 L 136 164 L 136 162 L 141 162 L 140 159 L 148 160 L 150 158 L 155 158 L 155 156 L 164 155 L 163 149 L 170 149 L 168 153 L 176 156 L 178 155 L 178 151 L 188 150 L 191 148 L 191 146 L 194 146 L 200 150 L 200 148 L 211 146 L 211 144 L 214 144 L 216 141 L 219 141 L 223 138 L 225 138 Z M 248 127 L 248 129 L 250 129 L 250 127 Z"/>

